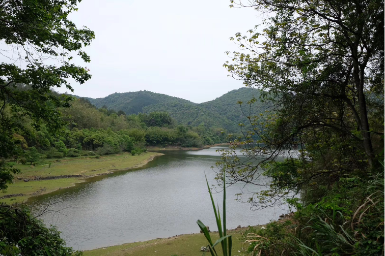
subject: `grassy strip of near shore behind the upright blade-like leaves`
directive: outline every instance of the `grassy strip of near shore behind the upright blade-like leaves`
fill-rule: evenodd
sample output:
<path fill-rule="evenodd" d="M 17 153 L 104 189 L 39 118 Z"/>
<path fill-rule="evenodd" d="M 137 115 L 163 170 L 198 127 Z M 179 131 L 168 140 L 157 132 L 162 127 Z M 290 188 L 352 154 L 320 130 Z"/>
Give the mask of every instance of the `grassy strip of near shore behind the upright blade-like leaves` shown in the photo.
<path fill-rule="evenodd" d="M 237 230 L 230 230 L 228 234 L 232 235 L 233 241 L 233 256 L 249 255 L 245 249 L 249 244 L 241 243 L 244 241 L 243 232 L 246 228 Z M 219 236 L 218 233 L 210 233 L 211 238 L 215 241 Z M 202 256 L 203 252 L 200 251 L 202 246 L 207 245 L 207 240 L 203 234 L 187 234 L 170 238 L 154 239 L 146 242 L 135 242 L 116 246 L 109 246 L 105 248 L 99 248 L 94 250 L 84 251 L 84 256 Z M 244 247 L 244 249 L 242 248 Z M 217 252 L 221 250 L 221 245 L 215 247 Z M 218 253 L 222 255 L 221 253 Z M 210 252 L 206 252 L 206 255 L 210 255 Z"/>

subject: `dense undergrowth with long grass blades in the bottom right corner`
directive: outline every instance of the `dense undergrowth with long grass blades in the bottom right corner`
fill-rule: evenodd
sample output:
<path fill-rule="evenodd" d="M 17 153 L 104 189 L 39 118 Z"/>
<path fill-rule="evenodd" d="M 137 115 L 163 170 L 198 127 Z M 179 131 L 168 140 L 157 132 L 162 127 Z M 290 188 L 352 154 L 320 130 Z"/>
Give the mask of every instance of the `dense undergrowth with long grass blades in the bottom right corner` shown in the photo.
<path fill-rule="evenodd" d="M 253 255 L 383 255 L 384 173 L 342 178 L 316 204 L 290 201 L 290 219 L 244 232 Z"/>

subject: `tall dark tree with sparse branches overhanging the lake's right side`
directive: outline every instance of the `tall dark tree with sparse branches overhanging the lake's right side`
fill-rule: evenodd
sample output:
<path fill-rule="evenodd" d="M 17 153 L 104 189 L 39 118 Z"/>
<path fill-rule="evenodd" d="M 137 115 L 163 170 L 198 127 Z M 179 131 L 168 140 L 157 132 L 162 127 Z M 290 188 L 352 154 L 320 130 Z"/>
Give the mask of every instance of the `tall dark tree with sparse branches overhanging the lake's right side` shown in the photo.
<path fill-rule="evenodd" d="M 349 173 L 376 173 L 383 151 L 383 1 L 248 3 L 271 18 L 262 31 L 257 25 L 250 36 L 231 38 L 247 52 L 234 52 L 233 62 L 224 66 L 246 86 L 263 90 L 250 104 L 273 106 L 258 117 L 245 112 L 253 129 L 243 131 L 245 137 L 235 138 L 233 150 L 223 155 L 221 167 L 231 182 L 267 187 L 250 199 L 263 207 L 314 181 L 332 184 Z M 231 1 L 231 7 L 245 6 Z M 250 146 L 254 135 L 262 147 Z M 298 160 L 288 155 L 283 164 L 275 163 L 293 144 L 306 151 L 299 151 Z M 236 155 L 236 145 L 253 164 Z M 271 178 L 267 184 L 259 180 L 262 173 Z"/>

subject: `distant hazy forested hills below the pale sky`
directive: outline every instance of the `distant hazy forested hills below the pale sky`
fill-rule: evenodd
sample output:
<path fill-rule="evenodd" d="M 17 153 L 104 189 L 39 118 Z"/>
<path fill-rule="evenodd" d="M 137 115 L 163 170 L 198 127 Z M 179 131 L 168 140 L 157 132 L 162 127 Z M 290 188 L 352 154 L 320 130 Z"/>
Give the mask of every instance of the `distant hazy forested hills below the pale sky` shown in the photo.
<path fill-rule="evenodd" d="M 113 93 L 105 98 L 87 99 L 97 108 L 105 105 L 108 109 L 123 110 L 127 115 L 166 111 L 181 124 L 198 126 L 204 123 L 207 127 L 221 127 L 228 132 L 239 132 L 238 123 L 248 120 L 242 114 L 237 102 L 246 103 L 253 95 L 258 98 L 259 90 L 243 87 L 200 104 L 146 90 Z M 253 105 L 253 114 L 264 110 L 264 106 L 259 102 Z"/>

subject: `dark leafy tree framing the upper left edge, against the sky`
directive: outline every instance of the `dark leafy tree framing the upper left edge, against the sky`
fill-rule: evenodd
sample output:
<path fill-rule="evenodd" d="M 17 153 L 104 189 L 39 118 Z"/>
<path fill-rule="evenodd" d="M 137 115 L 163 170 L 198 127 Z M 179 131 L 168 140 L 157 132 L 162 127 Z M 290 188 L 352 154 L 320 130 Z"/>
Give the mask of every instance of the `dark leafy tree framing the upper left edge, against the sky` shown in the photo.
<path fill-rule="evenodd" d="M 45 123 L 50 132 L 59 131 L 64 123 L 57 107 L 68 107 L 72 97 L 52 88 L 66 86 L 73 91 L 68 78 L 79 83 L 91 78 L 87 68 L 71 63 L 75 52 L 90 61 L 81 48 L 95 37 L 92 30 L 79 29 L 68 20 L 77 2 L 0 1 L 0 40 L 7 44 L 2 54 L 8 58 L 0 63 L 0 189 L 17 172 L 5 159 L 21 154 L 13 139 L 22 129 L 20 117 L 30 119 L 33 126 Z M 47 58 L 52 61 L 45 63 Z"/>

